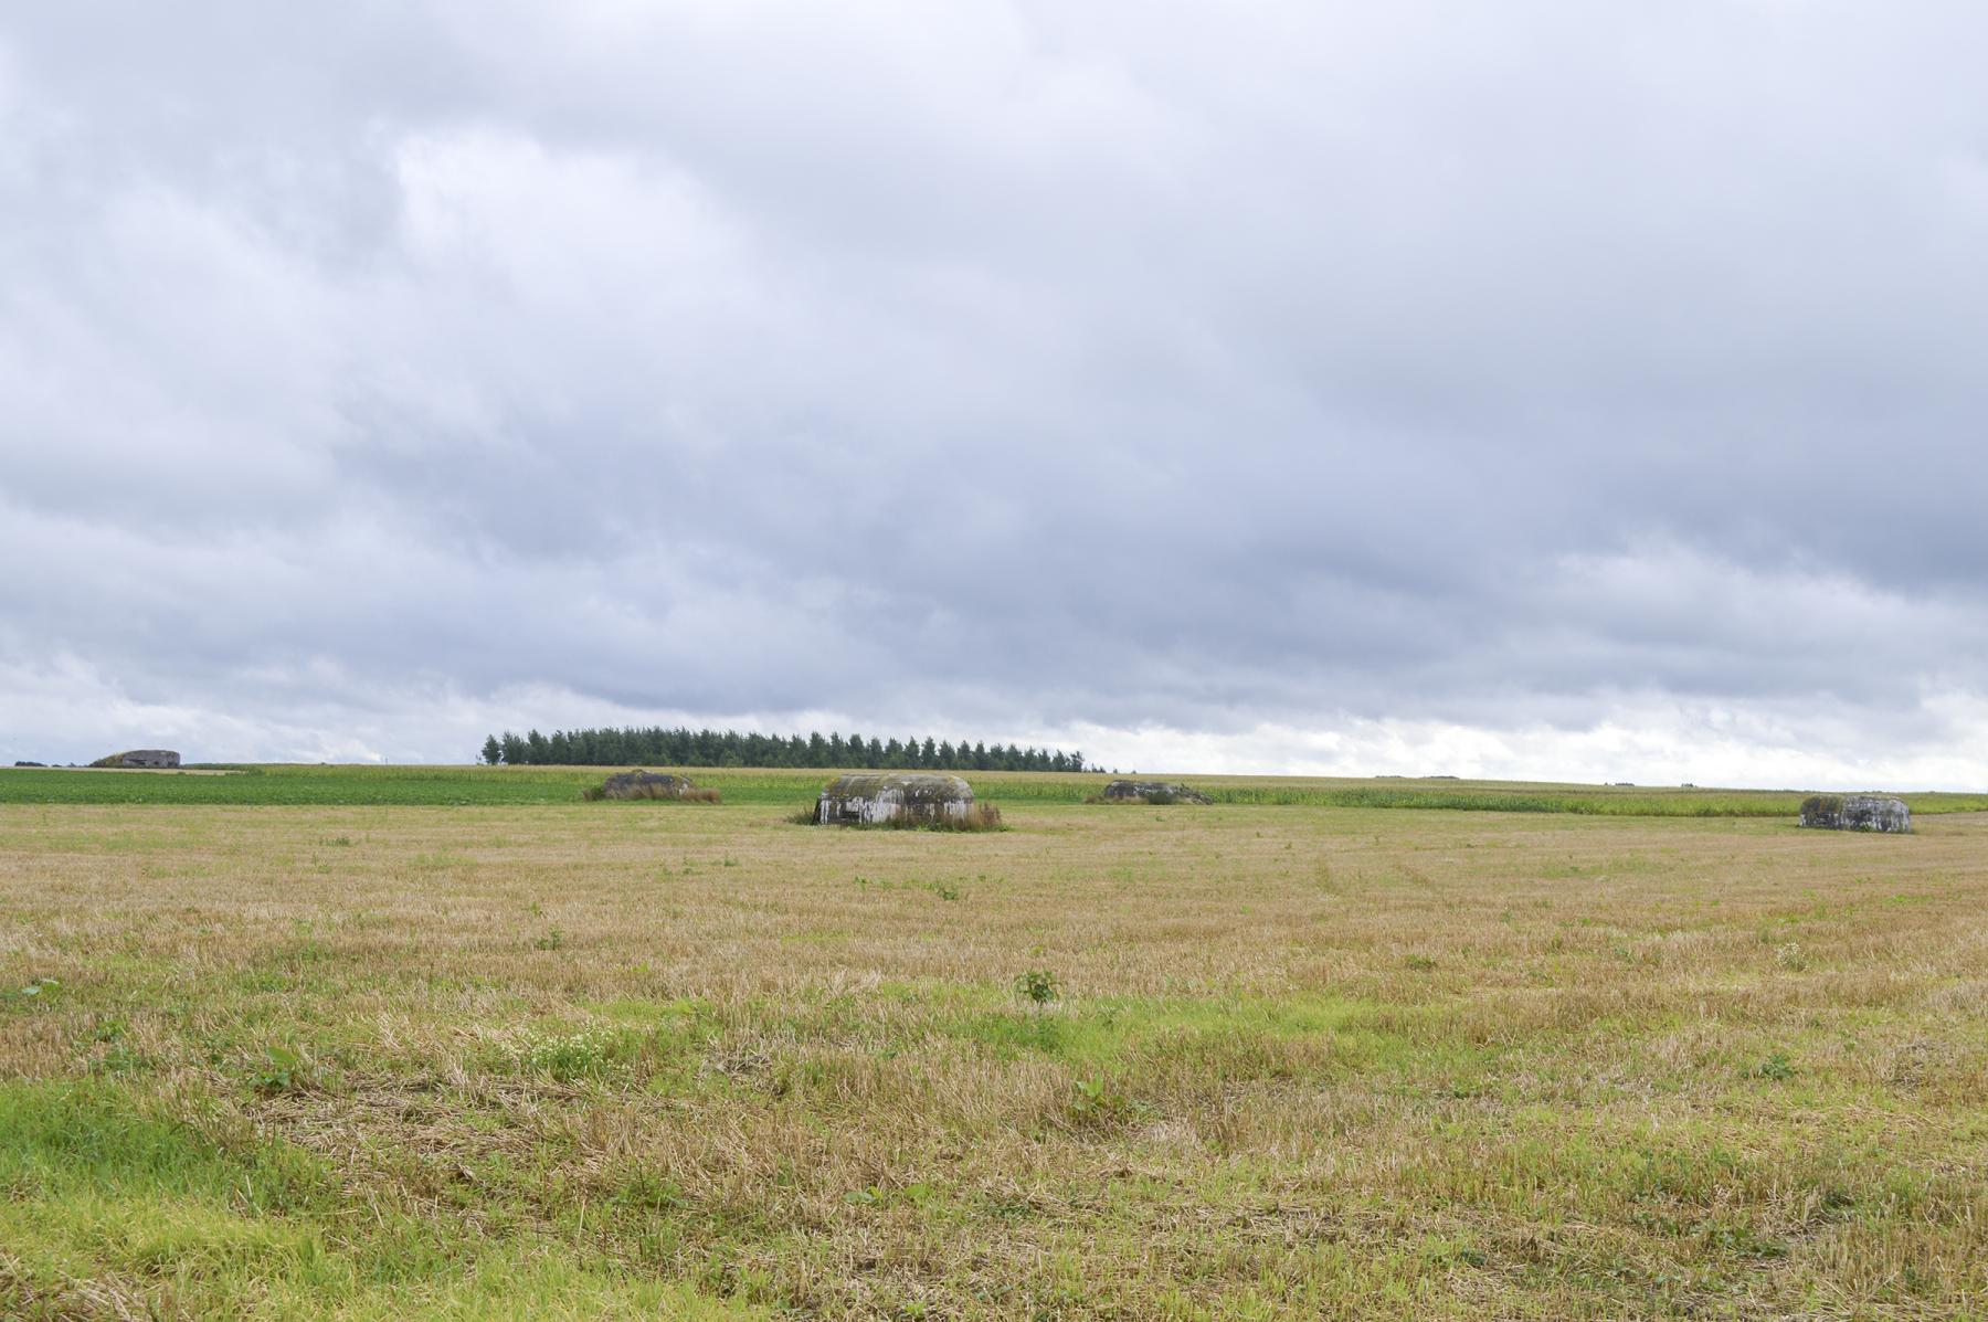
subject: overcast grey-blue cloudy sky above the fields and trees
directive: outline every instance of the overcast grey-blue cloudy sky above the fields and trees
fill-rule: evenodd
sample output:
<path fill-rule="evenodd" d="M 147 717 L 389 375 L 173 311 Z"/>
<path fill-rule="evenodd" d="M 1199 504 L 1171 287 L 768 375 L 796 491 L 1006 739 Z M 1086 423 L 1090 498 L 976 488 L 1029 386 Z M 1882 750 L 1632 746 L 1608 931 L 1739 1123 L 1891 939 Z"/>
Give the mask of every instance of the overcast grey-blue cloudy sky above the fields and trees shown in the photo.
<path fill-rule="evenodd" d="M 16 4 L 0 759 L 1988 785 L 1988 8 Z"/>

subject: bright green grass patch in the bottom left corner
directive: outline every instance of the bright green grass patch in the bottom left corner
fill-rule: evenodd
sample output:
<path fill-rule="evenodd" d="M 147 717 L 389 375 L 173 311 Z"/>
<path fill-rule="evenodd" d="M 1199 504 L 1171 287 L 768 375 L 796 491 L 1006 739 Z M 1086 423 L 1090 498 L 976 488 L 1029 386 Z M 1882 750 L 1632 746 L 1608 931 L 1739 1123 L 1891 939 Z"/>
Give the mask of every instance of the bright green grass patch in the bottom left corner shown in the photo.
<path fill-rule="evenodd" d="M 0 1189 L 8 1318 L 767 1316 L 533 1237 L 350 1203 L 314 1153 L 103 1081 L 0 1085 Z"/>

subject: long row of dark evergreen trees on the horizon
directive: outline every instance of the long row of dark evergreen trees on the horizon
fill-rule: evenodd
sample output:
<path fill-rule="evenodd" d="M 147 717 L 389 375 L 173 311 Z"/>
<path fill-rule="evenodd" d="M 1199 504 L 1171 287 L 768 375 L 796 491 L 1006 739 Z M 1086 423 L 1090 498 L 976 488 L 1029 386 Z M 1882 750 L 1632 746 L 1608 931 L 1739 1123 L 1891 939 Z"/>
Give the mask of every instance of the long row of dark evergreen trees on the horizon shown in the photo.
<path fill-rule="evenodd" d="M 1083 753 L 1014 744 L 865 740 L 859 734 L 740 734 L 738 730 L 555 730 L 493 734 L 483 761 L 507 765 L 626 767 L 865 767 L 879 771 L 1081 771 Z"/>

